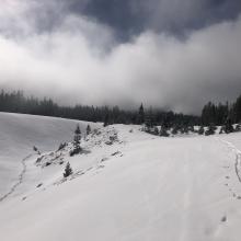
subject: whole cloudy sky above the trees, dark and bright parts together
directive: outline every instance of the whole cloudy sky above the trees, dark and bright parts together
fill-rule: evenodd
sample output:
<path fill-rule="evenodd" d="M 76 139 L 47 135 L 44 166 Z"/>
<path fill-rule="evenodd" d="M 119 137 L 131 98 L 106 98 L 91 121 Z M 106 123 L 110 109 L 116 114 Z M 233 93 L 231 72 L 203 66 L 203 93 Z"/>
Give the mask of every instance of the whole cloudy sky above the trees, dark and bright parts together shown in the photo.
<path fill-rule="evenodd" d="M 0 89 L 198 114 L 241 93 L 240 0 L 1 0 Z"/>

